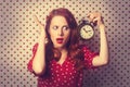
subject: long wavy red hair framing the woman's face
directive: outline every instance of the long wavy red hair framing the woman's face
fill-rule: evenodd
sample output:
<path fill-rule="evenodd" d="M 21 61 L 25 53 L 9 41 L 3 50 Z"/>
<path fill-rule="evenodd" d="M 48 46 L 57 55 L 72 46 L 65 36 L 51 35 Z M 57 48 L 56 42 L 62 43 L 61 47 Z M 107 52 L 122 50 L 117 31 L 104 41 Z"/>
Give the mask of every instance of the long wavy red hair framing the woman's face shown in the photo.
<path fill-rule="evenodd" d="M 46 50 L 47 62 L 49 62 L 52 59 L 55 59 L 58 61 L 58 59 L 61 58 L 61 52 L 57 49 L 54 49 L 53 44 L 50 38 L 50 34 L 49 34 L 51 21 L 56 15 L 64 16 L 68 23 L 68 26 L 70 28 L 70 37 L 66 45 L 66 48 L 68 51 L 68 55 L 72 58 L 72 60 L 74 60 L 76 62 L 76 64 L 75 64 L 76 67 L 81 69 L 82 67 L 81 61 L 83 59 L 83 55 L 82 55 L 81 50 L 79 49 L 79 39 L 78 39 L 79 37 L 78 37 L 78 30 L 77 30 L 78 24 L 74 17 L 73 13 L 69 10 L 64 9 L 64 8 L 54 9 L 47 16 L 46 32 L 47 32 L 47 37 L 49 39 L 49 42 L 47 44 L 47 48 L 46 48 L 47 49 Z"/>

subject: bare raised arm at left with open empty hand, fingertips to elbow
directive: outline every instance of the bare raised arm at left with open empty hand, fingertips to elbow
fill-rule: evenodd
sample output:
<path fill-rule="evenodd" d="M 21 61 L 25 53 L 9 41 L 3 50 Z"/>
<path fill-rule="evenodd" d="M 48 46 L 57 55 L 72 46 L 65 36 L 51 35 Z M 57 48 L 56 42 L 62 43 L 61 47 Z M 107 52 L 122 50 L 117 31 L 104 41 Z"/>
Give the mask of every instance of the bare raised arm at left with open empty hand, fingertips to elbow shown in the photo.
<path fill-rule="evenodd" d="M 44 26 L 38 21 L 36 15 L 34 18 L 40 27 L 40 36 L 38 40 L 38 48 L 32 60 L 32 70 L 35 74 L 41 75 L 46 71 L 46 30 Z"/>

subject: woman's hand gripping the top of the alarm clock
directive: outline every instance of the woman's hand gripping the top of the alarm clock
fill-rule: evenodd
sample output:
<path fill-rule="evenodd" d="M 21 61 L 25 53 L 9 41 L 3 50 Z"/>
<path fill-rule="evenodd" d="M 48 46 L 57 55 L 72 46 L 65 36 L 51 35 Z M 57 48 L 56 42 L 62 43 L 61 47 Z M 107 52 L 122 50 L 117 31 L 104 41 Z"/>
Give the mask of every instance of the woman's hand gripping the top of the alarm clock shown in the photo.
<path fill-rule="evenodd" d="M 92 22 L 92 23 L 96 24 L 99 27 L 101 25 L 104 25 L 103 17 L 102 17 L 102 14 L 100 12 L 89 13 L 87 15 L 87 17 L 89 18 L 89 22 Z"/>

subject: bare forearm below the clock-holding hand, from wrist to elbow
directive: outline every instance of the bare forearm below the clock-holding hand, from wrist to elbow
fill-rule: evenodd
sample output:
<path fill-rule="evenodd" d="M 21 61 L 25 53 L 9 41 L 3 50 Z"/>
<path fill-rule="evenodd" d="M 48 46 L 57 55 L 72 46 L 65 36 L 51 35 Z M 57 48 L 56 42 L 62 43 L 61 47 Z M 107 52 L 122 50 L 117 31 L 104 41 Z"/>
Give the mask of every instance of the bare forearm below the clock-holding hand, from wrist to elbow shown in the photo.
<path fill-rule="evenodd" d="M 105 25 L 100 24 L 99 29 L 100 29 L 100 55 L 96 55 L 93 59 L 92 61 L 93 66 L 105 65 L 108 62 L 108 47 L 105 35 Z"/>

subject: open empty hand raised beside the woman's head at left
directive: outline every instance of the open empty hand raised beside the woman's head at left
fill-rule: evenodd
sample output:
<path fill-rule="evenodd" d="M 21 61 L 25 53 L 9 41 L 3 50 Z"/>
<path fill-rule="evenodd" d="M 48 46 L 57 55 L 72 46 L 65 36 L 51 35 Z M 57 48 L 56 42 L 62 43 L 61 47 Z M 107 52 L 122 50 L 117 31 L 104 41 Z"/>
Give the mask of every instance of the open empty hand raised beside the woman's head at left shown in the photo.
<path fill-rule="evenodd" d="M 39 29 L 40 29 L 40 33 L 39 33 L 39 34 L 40 34 L 40 36 L 41 36 L 42 38 L 46 38 L 44 25 L 40 23 L 40 21 L 38 20 L 38 17 L 37 17 L 36 15 L 34 15 L 32 17 L 34 17 L 35 22 L 36 22 L 36 23 L 38 24 L 38 26 L 39 26 Z"/>

